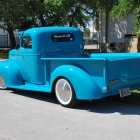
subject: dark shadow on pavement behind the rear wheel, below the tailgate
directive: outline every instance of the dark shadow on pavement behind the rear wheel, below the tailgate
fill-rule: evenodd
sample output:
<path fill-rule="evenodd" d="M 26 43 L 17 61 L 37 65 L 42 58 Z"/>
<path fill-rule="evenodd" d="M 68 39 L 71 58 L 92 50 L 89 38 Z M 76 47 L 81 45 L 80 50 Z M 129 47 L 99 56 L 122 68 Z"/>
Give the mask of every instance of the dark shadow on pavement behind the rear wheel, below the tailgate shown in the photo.
<path fill-rule="evenodd" d="M 107 98 L 94 100 L 92 102 L 83 101 L 76 109 L 104 114 L 118 112 L 121 115 L 140 115 L 140 106 L 114 102 Z"/>

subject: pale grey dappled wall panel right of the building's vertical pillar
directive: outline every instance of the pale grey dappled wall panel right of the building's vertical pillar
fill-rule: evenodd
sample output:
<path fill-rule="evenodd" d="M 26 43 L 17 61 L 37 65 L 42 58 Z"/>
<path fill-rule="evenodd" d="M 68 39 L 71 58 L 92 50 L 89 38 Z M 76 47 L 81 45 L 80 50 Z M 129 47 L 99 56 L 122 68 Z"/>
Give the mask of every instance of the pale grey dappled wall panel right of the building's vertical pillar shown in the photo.
<path fill-rule="evenodd" d="M 125 34 L 133 34 L 135 15 L 110 19 L 108 17 L 107 42 L 124 43 Z"/>

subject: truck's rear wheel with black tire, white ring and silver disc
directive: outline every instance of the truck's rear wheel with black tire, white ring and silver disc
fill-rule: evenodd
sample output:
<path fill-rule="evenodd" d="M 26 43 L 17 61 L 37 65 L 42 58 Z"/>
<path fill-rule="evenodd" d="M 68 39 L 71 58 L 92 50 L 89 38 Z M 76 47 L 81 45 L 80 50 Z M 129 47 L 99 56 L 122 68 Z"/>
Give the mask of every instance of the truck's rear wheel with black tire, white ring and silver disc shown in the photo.
<path fill-rule="evenodd" d="M 72 84 L 65 78 L 57 80 L 55 94 L 59 103 L 64 107 L 73 107 L 79 103 Z"/>

